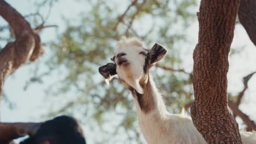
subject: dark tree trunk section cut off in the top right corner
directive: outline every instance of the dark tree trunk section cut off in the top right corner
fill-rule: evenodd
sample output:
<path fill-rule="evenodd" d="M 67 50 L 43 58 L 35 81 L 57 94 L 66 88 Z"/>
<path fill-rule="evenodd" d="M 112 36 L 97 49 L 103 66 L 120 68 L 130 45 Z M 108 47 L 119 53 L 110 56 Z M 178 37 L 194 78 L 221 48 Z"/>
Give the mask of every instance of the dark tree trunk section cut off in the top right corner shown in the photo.
<path fill-rule="evenodd" d="M 249 38 L 256 45 L 256 1 L 241 0 L 238 11 L 238 19 L 242 26 L 245 27 Z"/>

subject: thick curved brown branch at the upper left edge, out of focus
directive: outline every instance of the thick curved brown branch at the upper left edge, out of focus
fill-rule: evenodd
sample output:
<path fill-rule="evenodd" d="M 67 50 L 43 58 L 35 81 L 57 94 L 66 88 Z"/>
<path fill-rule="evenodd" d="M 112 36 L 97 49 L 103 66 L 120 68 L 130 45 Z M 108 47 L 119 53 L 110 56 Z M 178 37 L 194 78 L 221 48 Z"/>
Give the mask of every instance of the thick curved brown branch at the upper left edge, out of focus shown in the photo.
<path fill-rule="evenodd" d="M 8 43 L 0 51 L 0 104 L 3 95 L 5 79 L 27 61 L 34 61 L 44 52 L 37 32 L 33 31 L 30 24 L 12 8 L 7 2 L 0 1 L 0 15 L 9 23 L 15 35 L 15 41 Z M 10 136 L 16 131 L 5 131 Z M 6 140 L 8 137 L 4 137 Z M 11 137 L 10 137 L 11 139 Z M 0 137 L 1 140 L 1 137 Z"/>

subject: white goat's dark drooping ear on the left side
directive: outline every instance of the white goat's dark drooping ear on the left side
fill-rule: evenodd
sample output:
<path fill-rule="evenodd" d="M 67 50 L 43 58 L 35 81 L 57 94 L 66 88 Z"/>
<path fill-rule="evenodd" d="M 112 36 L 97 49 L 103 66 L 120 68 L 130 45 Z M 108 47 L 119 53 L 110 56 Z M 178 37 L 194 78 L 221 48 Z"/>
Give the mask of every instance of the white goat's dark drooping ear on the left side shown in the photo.
<path fill-rule="evenodd" d="M 110 77 L 117 74 L 117 65 L 113 63 L 108 63 L 98 68 L 98 72 L 104 77 L 104 79 L 109 79 Z"/>

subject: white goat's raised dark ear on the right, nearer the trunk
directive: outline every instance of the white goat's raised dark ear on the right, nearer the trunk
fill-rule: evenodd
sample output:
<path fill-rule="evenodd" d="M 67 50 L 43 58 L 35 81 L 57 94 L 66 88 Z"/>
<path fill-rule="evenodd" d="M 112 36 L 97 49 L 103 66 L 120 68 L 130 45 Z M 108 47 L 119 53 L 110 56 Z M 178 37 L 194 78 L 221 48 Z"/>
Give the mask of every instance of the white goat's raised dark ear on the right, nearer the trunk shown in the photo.
<path fill-rule="evenodd" d="M 155 44 L 149 52 L 149 64 L 155 64 L 165 57 L 167 50 L 159 44 Z"/>

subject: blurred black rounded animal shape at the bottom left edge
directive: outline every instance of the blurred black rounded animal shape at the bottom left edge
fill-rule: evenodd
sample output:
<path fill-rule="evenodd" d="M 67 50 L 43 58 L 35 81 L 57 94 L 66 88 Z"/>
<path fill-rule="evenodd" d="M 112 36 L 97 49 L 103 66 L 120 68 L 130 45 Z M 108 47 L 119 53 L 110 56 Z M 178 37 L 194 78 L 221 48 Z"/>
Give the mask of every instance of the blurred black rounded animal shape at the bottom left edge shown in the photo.
<path fill-rule="evenodd" d="M 83 130 L 78 122 L 68 116 L 59 116 L 40 125 L 36 135 L 20 144 L 85 144 Z"/>

